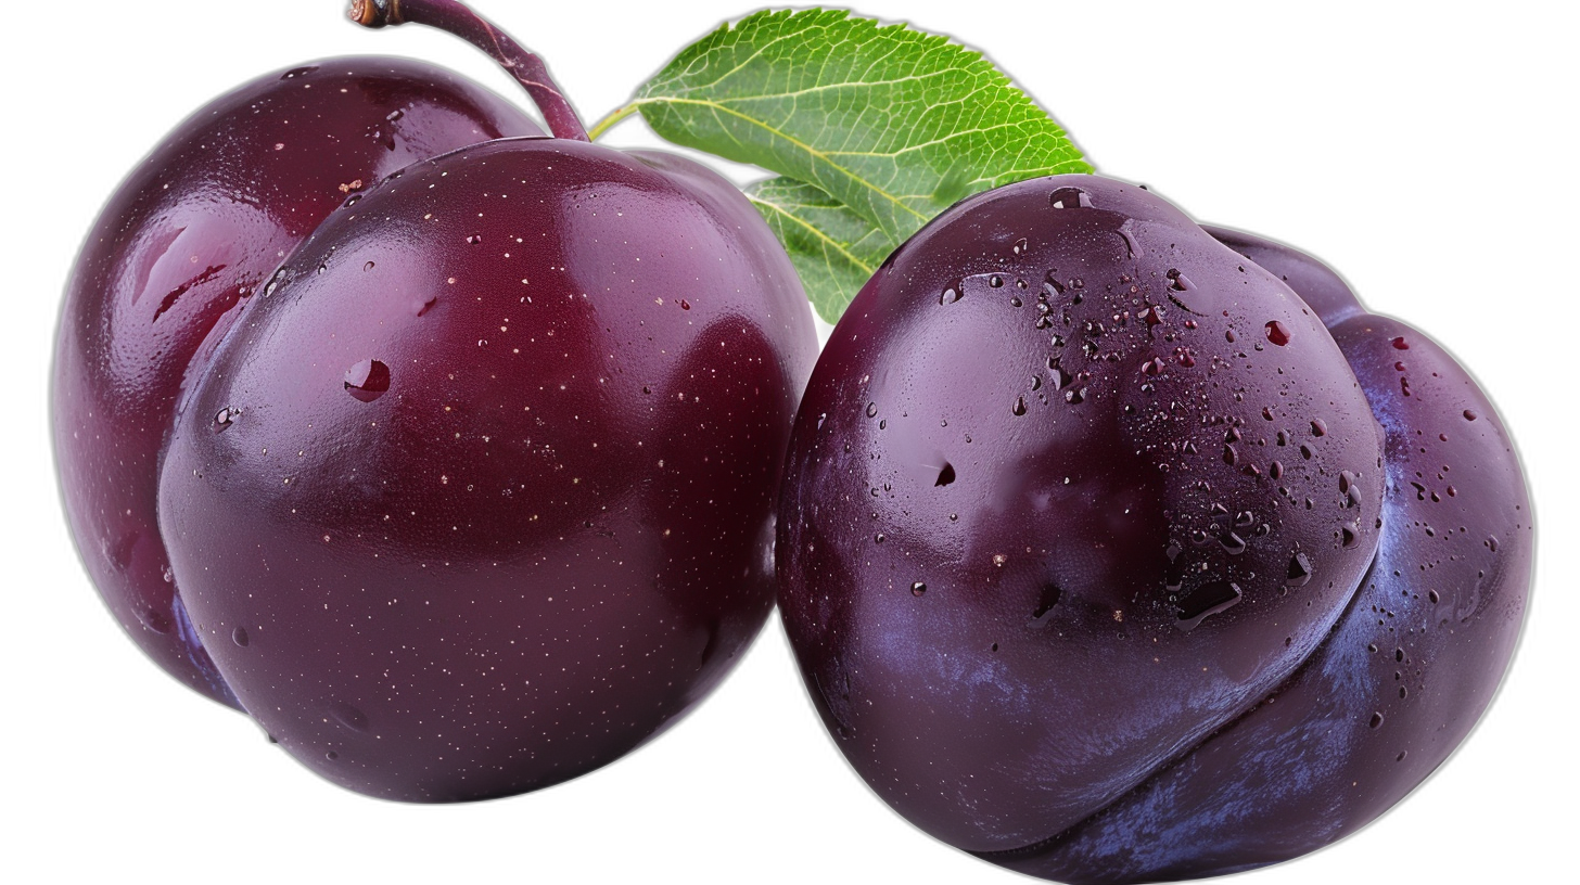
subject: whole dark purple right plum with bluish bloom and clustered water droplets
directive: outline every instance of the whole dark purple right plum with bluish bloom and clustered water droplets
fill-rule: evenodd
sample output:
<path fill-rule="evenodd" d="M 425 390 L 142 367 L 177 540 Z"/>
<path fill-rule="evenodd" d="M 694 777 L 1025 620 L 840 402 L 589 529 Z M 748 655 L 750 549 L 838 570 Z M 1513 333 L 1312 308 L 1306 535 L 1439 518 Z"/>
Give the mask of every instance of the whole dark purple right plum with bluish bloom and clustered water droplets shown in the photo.
<path fill-rule="evenodd" d="M 836 746 L 924 833 L 1059 882 L 1365 827 L 1485 711 L 1531 586 L 1518 458 L 1452 357 L 1095 177 L 901 247 L 785 476 L 781 616 Z"/>

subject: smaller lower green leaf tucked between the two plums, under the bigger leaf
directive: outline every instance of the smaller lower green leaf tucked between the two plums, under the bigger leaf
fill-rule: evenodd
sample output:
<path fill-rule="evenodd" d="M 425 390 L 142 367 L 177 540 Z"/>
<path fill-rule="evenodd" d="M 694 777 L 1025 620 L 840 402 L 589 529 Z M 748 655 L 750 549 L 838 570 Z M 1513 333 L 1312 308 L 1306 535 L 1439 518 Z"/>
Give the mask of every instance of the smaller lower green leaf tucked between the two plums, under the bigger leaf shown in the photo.
<path fill-rule="evenodd" d="M 781 175 L 744 190 L 784 243 L 812 308 L 823 321 L 839 322 L 850 299 L 894 251 L 894 240 L 806 182 Z"/>

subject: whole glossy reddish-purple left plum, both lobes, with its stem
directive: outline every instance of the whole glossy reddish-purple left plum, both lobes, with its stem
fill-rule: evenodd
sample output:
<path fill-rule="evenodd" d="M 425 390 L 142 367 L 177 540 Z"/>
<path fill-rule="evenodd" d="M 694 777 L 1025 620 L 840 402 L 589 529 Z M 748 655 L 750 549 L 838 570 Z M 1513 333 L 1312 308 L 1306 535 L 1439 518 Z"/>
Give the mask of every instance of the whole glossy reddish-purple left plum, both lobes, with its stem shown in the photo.
<path fill-rule="evenodd" d="M 812 316 L 730 180 L 588 144 L 463 5 L 352 11 L 479 44 L 553 136 L 386 58 L 201 109 L 68 284 L 62 498 L 125 629 L 324 779 L 534 792 L 681 722 L 768 623 Z"/>

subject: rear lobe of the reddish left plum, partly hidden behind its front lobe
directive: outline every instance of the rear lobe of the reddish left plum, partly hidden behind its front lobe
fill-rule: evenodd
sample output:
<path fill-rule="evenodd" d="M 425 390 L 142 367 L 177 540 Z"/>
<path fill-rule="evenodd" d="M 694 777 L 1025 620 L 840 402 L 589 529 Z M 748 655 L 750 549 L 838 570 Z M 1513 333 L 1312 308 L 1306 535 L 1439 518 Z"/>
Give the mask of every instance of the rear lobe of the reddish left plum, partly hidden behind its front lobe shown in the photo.
<path fill-rule="evenodd" d="M 349 190 L 457 147 L 540 133 L 442 68 L 332 58 L 210 101 L 100 212 L 55 338 L 55 463 L 93 586 L 166 673 L 239 708 L 172 580 L 155 495 L 182 398 L 248 297 Z"/>

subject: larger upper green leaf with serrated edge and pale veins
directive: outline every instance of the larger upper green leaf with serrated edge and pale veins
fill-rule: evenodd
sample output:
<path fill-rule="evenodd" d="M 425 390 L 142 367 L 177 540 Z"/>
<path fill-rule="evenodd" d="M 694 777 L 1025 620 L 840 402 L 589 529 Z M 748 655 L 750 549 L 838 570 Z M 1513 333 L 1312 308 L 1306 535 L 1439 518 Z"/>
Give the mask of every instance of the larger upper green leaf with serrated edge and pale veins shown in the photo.
<path fill-rule="evenodd" d="M 725 22 L 632 109 L 665 141 L 822 190 L 896 243 L 969 193 L 1092 171 L 981 52 L 848 9 Z"/>

